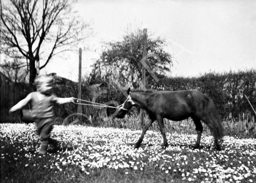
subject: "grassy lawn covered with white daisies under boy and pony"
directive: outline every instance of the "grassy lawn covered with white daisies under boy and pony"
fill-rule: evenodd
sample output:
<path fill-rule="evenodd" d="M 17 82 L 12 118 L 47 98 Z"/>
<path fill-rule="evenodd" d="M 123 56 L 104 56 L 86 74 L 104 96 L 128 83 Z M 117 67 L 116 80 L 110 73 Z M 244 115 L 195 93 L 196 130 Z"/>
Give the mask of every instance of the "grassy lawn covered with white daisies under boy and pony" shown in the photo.
<path fill-rule="evenodd" d="M 54 125 L 52 138 L 61 150 L 38 156 L 34 124 L 0 124 L 1 182 L 255 182 L 256 139 L 225 136 L 222 151 L 212 136 L 141 130 Z"/>

